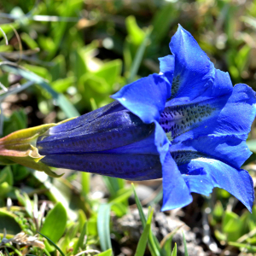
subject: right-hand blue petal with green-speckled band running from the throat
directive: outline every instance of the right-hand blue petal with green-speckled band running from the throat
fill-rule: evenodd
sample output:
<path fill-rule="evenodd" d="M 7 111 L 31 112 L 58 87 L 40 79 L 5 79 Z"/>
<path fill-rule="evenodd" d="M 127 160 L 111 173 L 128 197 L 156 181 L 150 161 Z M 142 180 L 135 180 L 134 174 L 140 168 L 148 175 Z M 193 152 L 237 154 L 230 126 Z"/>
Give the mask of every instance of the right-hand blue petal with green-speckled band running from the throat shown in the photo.
<path fill-rule="evenodd" d="M 231 96 L 165 108 L 160 125 L 166 132 L 172 132 L 172 143 L 207 134 L 233 135 L 245 140 L 255 117 L 255 102 L 255 93 L 250 87 L 236 84 Z"/>

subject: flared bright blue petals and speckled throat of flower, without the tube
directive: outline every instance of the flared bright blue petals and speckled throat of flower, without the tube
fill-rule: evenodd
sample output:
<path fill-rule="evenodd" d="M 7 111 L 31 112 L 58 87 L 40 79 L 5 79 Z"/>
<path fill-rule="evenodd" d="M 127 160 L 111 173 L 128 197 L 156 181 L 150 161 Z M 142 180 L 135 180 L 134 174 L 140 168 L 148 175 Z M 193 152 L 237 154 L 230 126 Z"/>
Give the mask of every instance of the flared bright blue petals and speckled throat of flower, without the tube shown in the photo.
<path fill-rule="evenodd" d="M 170 48 L 172 55 L 160 58 L 160 71 L 172 83 L 164 109 L 155 97 L 146 99 L 138 93 L 138 84 L 113 96 L 143 122 L 160 124 L 155 125 L 155 145 L 162 164 L 162 210 L 189 204 L 191 192 L 209 195 L 219 187 L 251 211 L 253 181 L 240 167 L 251 154 L 245 141 L 255 117 L 255 93 L 246 84 L 233 88 L 229 74 L 213 67 L 182 26 Z M 146 110 L 148 102 L 155 107 L 154 115 Z M 163 131 L 169 142 L 158 145 Z"/>

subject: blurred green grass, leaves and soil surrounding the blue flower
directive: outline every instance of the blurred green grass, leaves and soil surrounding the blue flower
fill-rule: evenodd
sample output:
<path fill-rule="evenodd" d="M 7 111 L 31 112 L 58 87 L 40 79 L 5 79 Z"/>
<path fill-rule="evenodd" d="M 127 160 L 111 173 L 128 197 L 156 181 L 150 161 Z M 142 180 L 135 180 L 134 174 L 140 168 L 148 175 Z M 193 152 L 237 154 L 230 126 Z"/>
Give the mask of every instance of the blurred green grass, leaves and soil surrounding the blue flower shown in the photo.
<path fill-rule="evenodd" d="M 178 23 L 234 84 L 256 90 L 255 0 L 2 0 L 0 11 L 1 136 L 102 107 L 158 73 Z M 255 159 L 244 166 L 253 179 Z M 250 214 L 224 190 L 163 213 L 161 181 L 137 183 L 134 195 L 124 180 L 58 172 L 2 166 L 2 254 L 186 255 L 181 230 L 189 256 L 256 253 L 256 207 Z"/>

